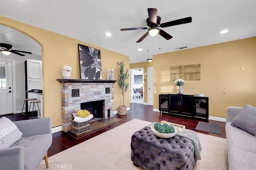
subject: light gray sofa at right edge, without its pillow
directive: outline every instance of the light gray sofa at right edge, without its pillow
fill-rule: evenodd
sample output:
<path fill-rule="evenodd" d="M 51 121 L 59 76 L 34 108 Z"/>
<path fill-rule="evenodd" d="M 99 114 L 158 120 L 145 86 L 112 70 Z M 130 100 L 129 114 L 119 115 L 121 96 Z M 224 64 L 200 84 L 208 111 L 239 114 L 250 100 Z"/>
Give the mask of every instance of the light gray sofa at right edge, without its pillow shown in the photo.
<path fill-rule="evenodd" d="M 234 106 L 227 108 L 225 129 L 228 166 L 230 170 L 256 170 L 256 137 L 230 125 L 242 108 Z"/>

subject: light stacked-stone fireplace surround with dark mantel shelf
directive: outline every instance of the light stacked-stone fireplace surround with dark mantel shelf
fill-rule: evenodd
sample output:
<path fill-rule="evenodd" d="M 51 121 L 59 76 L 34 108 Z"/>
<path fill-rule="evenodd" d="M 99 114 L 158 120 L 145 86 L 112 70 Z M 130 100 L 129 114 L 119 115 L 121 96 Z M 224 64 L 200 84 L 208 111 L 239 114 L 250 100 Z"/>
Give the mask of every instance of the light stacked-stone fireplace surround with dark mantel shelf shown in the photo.
<path fill-rule="evenodd" d="M 61 84 L 62 131 L 71 131 L 71 113 L 81 109 L 80 103 L 105 100 L 103 119 L 114 116 L 114 83 L 116 80 L 57 79 Z M 72 94 L 73 92 L 73 94 Z M 75 94 L 74 94 L 75 93 Z"/>

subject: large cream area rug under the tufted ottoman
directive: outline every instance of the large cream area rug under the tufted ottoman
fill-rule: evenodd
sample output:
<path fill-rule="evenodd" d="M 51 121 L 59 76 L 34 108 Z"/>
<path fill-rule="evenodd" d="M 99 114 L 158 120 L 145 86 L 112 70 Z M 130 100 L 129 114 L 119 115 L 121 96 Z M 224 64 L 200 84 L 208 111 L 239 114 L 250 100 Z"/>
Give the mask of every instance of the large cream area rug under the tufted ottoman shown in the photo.
<path fill-rule="evenodd" d="M 48 158 L 49 170 L 142 170 L 133 165 L 131 136 L 150 122 L 133 119 L 70 149 Z M 228 170 L 227 142 L 224 138 L 198 133 L 202 145 L 195 170 Z M 44 160 L 37 168 L 46 170 Z"/>

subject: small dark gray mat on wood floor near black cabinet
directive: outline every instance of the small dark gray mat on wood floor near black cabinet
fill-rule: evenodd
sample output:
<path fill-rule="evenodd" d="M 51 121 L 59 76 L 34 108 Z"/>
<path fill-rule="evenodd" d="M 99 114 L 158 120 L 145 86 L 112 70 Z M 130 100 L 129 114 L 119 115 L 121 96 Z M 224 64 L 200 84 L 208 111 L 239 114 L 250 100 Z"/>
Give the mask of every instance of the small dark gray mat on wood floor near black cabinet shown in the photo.
<path fill-rule="evenodd" d="M 197 126 L 196 126 L 196 130 L 221 135 L 220 125 L 217 125 L 217 124 L 214 124 L 214 123 L 207 123 L 207 122 L 199 121 Z"/>

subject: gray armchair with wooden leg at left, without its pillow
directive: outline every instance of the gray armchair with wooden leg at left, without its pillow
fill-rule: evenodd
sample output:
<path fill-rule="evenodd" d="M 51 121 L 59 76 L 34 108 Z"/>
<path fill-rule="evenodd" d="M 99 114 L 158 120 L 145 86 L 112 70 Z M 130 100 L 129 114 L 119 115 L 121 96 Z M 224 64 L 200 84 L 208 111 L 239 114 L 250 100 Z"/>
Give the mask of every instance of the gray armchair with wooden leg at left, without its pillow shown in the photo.
<path fill-rule="evenodd" d="M 14 122 L 22 138 L 9 148 L 0 149 L 1 170 L 34 170 L 43 158 L 48 168 L 47 151 L 52 145 L 50 118 Z"/>

